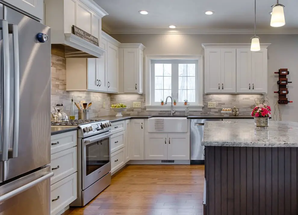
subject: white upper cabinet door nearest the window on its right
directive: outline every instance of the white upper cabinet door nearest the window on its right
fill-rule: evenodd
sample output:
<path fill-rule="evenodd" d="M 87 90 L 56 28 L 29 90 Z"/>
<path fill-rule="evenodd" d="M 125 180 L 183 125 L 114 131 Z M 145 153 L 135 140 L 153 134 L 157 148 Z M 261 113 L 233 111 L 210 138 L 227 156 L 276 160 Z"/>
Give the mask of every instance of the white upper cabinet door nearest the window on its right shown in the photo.
<path fill-rule="evenodd" d="M 219 93 L 221 83 L 221 50 L 208 49 L 205 55 L 205 92 Z"/>

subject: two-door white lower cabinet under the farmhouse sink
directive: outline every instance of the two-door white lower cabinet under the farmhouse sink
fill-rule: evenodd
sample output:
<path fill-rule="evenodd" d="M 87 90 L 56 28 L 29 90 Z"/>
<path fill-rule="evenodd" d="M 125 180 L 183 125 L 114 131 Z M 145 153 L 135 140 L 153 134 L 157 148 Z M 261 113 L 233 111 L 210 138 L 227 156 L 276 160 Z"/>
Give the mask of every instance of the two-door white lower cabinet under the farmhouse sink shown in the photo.
<path fill-rule="evenodd" d="M 145 138 L 146 160 L 189 160 L 189 134 L 147 134 Z"/>

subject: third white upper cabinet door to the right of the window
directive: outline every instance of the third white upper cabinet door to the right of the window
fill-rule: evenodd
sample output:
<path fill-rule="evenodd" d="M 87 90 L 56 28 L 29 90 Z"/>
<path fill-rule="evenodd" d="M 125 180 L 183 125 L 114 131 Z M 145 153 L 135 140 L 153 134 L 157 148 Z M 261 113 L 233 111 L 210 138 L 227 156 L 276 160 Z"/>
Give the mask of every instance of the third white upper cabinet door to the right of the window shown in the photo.
<path fill-rule="evenodd" d="M 251 51 L 250 49 L 236 50 L 236 74 L 237 74 L 237 89 L 236 92 L 249 93 L 252 89 L 251 83 Z"/>

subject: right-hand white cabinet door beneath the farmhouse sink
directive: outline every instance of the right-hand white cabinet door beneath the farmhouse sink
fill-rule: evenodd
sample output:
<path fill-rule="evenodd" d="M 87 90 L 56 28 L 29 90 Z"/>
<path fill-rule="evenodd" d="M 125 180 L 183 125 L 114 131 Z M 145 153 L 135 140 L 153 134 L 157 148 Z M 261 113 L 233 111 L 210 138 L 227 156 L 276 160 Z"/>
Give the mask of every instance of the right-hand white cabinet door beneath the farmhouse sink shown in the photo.
<path fill-rule="evenodd" d="M 190 159 L 190 135 L 168 135 L 168 159 L 189 160 Z"/>

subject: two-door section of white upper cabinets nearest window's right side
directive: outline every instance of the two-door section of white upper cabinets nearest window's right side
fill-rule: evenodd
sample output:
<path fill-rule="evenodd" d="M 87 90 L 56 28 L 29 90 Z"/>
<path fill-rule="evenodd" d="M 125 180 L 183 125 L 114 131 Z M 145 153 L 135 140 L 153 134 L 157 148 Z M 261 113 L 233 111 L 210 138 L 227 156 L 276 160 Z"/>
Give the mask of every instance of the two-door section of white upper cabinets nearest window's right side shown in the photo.
<path fill-rule="evenodd" d="M 205 92 L 236 92 L 236 49 L 205 50 Z"/>

